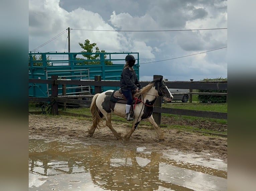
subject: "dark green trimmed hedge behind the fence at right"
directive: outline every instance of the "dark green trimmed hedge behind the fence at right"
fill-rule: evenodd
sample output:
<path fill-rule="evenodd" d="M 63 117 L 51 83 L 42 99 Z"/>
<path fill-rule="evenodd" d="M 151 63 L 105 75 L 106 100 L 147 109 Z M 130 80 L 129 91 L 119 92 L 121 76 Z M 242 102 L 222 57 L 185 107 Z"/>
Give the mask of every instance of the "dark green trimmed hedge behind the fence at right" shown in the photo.
<path fill-rule="evenodd" d="M 208 79 L 205 78 L 201 81 L 225 81 L 228 80 L 228 78 L 214 78 L 214 79 Z M 198 90 L 198 92 L 202 93 L 227 93 L 226 90 Z M 198 101 L 202 103 L 226 103 L 227 96 L 226 95 L 198 95 Z"/>

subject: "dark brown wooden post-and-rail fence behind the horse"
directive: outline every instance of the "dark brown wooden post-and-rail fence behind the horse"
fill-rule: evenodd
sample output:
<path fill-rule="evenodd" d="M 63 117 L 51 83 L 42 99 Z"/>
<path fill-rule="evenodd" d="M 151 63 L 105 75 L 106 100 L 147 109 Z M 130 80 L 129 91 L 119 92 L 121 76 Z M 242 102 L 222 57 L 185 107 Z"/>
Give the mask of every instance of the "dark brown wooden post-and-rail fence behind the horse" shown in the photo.
<path fill-rule="evenodd" d="M 154 75 L 153 79 L 159 79 L 162 77 L 160 75 Z M 51 113 L 53 115 L 58 114 L 58 104 L 59 103 L 72 103 L 81 105 L 90 105 L 89 100 L 79 100 L 70 98 L 69 96 L 58 97 L 58 85 L 81 85 L 81 86 L 94 86 L 95 94 L 101 93 L 102 86 L 119 87 L 119 81 L 101 81 L 101 76 L 95 76 L 93 80 L 58 80 L 57 76 L 52 75 L 51 80 L 44 79 L 29 79 L 29 83 L 36 84 L 49 84 L 51 85 L 51 97 L 29 97 L 29 101 L 35 102 L 50 102 L 51 103 Z M 148 85 L 150 82 L 141 81 L 142 87 Z M 165 82 L 168 88 L 177 89 L 196 89 L 196 90 L 227 90 L 227 81 L 175 81 L 175 82 Z M 214 94 L 216 95 L 216 94 Z M 220 94 L 221 95 L 221 94 Z M 67 98 L 69 97 L 69 98 Z M 161 123 L 161 113 L 177 114 L 177 115 L 188 115 L 206 118 L 217 118 L 217 119 L 227 119 L 227 113 L 224 112 L 212 112 L 212 111 L 197 111 L 188 109 L 174 109 L 165 108 L 161 106 L 161 98 L 158 97 L 154 104 L 153 117 L 158 125 Z"/>

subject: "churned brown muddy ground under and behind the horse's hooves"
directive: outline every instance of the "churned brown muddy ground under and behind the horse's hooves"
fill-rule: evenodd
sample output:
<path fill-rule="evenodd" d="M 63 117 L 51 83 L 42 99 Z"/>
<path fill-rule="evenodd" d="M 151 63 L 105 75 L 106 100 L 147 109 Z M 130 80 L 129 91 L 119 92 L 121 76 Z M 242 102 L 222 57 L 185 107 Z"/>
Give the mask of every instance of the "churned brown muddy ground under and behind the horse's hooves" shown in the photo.
<path fill-rule="evenodd" d="M 214 122 L 203 121 L 175 121 L 173 118 L 161 118 L 161 122 L 167 124 L 188 124 L 199 128 L 211 128 L 218 131 L 227 130 L 227 125 L 221 125 Z M 92 137 L 88 137 L 87 130 L 92 122 L 82 117 L 72 116 L 50 116 L 29 114 L 29 138 L 49 138 L 49 139 L 69 139 L 87 141 L 89 143 L 100 143 L 107 141 L 110 143 L 120 142 L 116 140 L 111 130 L 106 128 L 96 129 Z M 112 122 L 113 127 L 121 136 L 124 136 L 129 130 L 131 124 Z M 125 144 L 131 147 L 145 146 L 155 151 L 163 151 L 168 149 L 177 149 L 187 153 L 199 154 L 205 159 L 217 158 L 227 162 L 228 157 L 228 141 L 224 137 L 204 136 L 196 132 L 187 132 L 176 129 L 164 129 L 165 141 L 158 142 L 157 134 L 153 128 L 139 124 L 134 131 L 130 140 Z M 123 143 L 123 141 L 121 140 Z M 211 155 L 209 155 L 211 154 Z"/>

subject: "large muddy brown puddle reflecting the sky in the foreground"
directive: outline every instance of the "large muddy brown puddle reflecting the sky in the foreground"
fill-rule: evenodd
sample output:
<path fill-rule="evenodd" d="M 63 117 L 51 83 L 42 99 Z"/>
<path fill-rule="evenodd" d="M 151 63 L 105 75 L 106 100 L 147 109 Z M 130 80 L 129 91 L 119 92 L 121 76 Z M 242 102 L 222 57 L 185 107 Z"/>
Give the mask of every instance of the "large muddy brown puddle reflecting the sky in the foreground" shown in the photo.
<path fill-rule="evenodd" d="M 175 150 L 29 139 L 29 190 L 227 190 L 227 164 Z"/>

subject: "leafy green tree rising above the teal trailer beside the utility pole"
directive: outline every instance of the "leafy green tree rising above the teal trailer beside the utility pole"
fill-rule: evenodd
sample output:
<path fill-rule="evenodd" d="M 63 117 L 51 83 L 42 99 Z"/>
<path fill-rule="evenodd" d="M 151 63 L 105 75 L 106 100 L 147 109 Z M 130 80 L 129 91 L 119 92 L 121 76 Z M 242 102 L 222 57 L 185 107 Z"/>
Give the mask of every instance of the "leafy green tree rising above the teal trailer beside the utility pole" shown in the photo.
<path fill-rule="evenodd" d="M 81 53 L 93 53 L 94 47 L 97 45 L 96 43 L 90 43 L 89 39 L 86 39 L 84 44 L 79 43 L 83 51 Z M 95 47 L 95 53 L 105 53 L 105 50 L 99 49 L 99 47 Z M 82 59 L 82 58 L 77 58 L 76 60 L 100 60 L 100 55 L 99 54 L 83 54 L 84 57 L 87 59 Z M 107 54 L 104 54 L 104 59 L 107 58 Z M 113 63 L 111 61 L 104 61 L 105 65 L 112 65 Z M 78 65 L 82 64 L 100 64 L 100 61 L 84 61 L 82 63 L 77 63 Z"/>

